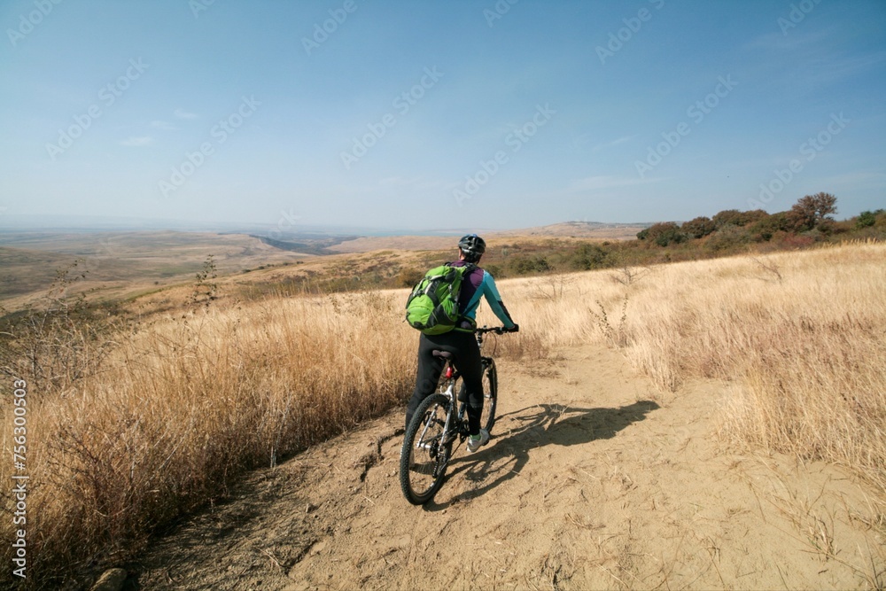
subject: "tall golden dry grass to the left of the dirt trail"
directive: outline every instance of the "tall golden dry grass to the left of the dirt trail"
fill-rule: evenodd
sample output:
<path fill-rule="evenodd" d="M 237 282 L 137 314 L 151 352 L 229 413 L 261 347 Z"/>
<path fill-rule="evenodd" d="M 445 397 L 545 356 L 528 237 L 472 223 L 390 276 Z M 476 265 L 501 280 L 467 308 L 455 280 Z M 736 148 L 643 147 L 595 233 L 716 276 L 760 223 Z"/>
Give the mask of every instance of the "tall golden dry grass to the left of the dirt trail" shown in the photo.
<path fill-rule="evenodd" d="M 128 338 L 75 389 L 32 389 L 28 572 L 58 583 L 131 556 L 155 525 L 244 470 L 402 403 L 416 334 L 400 307 L 358 293 L 201 310 Z M 0 420 L 10 442 L 11 405 Z M 12 482 L 10 468 L 0 463 L 0 480 Z M 11 528 L 0 521 L 0 537 L 12 540 Z M 0 554 L 12 564 L 8 544 Z"/>

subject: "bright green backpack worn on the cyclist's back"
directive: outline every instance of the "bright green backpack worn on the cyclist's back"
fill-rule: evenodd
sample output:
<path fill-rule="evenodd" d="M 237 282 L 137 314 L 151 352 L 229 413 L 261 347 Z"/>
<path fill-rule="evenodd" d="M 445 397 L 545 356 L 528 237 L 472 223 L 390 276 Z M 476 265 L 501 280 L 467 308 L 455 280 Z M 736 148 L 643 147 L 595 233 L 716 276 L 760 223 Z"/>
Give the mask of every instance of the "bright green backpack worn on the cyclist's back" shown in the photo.
<path fill-rule="evenodd" d="M 452 267 L 449 263 L 432 268 L 416 284 L 406 302 L 406 322 L 426 335 L 439 335 L 455 328 L 458 315 L 458 294 L 462 279 L 477 268 L 467 264 Z"/>

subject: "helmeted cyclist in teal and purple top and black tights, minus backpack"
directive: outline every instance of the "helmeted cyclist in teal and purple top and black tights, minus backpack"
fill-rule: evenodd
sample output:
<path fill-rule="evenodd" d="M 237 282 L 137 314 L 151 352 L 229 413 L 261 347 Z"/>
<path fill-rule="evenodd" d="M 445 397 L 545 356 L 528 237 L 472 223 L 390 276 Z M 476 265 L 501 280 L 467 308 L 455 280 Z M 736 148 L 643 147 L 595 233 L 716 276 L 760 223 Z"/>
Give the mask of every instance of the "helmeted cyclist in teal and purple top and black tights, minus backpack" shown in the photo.
<path fill-rule="evenodd" d="M 480 364 L 480 349 L 473 332 L 477 327 L 474 320 L 480 298 L 486 297 L 489 306 L 505 330 L 517 332 L 519 326 L 511 320 L 508 310 L 501 303 L 501 296 L 495 287 L 493 276 L 488 271 L 477 267 L 480 257 L 486 252 L 486 242 L 476 234 L 469 234 L 458 241 L 458 261 L 449 263 L 453 267 L 472 264 L 474 268 L 466 272 L 462 279 L 462 290 L 459 293 L 458 311 L 462 320 L 455 329 L 440 335 L 422 334 L 418 343 L 418 375 L 416 389 L 406 408 L 406 426 L 416 412 L 422 400 L 434 392 L 443 370 L 444 360 L 435 357 L 433 352 L 447 351 L 453 356 L 455 369 L 458 369 L 464 380 L 464 392 L 468 403 L 468 451 L 473 454 L 489 441 L 486 429 L 480 429 L 480 418 L 483 413 L 483 380 Z M 461 400 L 461 399 L 460 399 Z M 465 400 L 462 400 L 465 401 Z"/>

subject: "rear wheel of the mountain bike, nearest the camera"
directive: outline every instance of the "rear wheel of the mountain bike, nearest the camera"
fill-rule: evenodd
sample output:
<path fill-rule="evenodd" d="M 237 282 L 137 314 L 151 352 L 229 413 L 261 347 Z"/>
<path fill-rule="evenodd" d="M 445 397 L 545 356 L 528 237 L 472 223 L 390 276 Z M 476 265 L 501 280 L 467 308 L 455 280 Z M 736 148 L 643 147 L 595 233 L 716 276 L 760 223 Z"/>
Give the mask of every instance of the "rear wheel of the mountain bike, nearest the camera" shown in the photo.
<path fill-rule="evenodd" d="M 424 505 L 443 486 L 452 441 L 443 443 L 450 400 L 431 394 L 416 409 L 400 449 L 400 488 L 408 502 Z"/>

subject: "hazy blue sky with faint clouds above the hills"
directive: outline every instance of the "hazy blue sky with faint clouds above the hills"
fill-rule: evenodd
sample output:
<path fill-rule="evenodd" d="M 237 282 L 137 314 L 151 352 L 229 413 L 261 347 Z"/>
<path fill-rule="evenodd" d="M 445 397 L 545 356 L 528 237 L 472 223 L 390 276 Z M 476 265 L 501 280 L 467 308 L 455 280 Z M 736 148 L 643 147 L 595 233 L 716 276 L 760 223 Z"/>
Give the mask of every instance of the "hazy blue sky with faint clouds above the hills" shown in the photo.
<path fill-rule="evenodd" d="M 882 0 L 15 0 L 0 25 L 7 221 L 886 206 Z"/>

